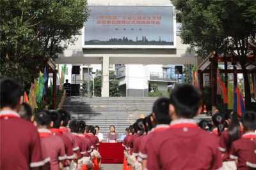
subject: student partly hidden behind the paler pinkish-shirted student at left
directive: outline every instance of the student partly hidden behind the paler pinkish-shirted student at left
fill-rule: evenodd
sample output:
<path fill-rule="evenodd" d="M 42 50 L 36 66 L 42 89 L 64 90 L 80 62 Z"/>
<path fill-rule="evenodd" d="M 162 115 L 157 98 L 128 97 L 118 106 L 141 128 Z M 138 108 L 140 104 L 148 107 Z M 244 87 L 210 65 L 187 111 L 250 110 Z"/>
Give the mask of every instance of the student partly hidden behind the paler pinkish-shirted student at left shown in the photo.
<path fill-rule="evenodd" d="M 72 141 L 63 134 L 63 131 L 60 129 L 60 124 L 61 124 L 61 115 L 58 113 L 58 111 L 51 110 L 50 111 L 51 115 L 51 121 L 53 122 L 52 127 L 50 131 L 52 132 L 53 135 L 60 136 L 62 139 L 64 146 L 65 146 L 65 153 L 66 153 L 66 158 L 64 167 L 69 167 L 71 160 L 75 159 L 75 155 L 73 152 L 72 148 Z"/>

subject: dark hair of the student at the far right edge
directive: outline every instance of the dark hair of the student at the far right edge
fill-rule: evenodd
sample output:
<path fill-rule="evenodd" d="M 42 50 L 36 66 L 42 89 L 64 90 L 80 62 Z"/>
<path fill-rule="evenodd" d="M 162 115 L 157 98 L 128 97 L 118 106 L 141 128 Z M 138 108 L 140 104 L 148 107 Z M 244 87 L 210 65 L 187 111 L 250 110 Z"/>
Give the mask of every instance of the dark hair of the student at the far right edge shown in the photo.
<path fill-rule="evenodd" d="M 246 111 L 243 114 L 242 123 L 244 126 L 244 130 L 255 131 L 256 130 L 256 112 L 255 111 Z"/>

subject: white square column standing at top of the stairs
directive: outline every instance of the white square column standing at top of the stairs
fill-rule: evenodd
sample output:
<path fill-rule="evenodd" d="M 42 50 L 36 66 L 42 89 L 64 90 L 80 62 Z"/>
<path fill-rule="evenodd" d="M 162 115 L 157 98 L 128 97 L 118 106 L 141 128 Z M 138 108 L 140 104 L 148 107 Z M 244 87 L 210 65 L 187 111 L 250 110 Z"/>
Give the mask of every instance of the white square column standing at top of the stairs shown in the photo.
<path fill-rule="evenodd" d="M 109 57 L 108 56 L 103 56 L 101 96 L 109 97 Z"/>

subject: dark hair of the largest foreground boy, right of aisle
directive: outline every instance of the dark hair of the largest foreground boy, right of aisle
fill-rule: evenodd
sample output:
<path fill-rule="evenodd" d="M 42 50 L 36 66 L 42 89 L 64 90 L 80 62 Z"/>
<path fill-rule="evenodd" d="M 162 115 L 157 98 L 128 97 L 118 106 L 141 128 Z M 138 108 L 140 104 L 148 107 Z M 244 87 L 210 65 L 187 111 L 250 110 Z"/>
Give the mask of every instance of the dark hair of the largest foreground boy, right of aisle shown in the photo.
<path fill-rule="evenodd" d="M 201 105 L 201 93 L 193 85 L 175 85 L 170 96 L 170 103 L 173 104 L 175 112 L 181 118 L 195 117 Z"/>

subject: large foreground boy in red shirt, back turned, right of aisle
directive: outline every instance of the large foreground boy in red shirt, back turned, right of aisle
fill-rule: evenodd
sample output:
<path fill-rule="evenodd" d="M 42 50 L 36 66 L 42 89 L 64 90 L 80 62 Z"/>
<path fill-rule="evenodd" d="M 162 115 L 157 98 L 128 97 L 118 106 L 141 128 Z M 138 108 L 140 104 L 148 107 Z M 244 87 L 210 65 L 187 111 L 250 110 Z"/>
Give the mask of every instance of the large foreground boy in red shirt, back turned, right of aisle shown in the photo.
<path fill-rule="evenodd" d="M 222 167 L 216 136 L 200 129 L 192 119 L 202 110 L 201 100 L 192 85 L 175 86 L 170 96 L 170 127 L 148 139 L 148 170 Z"/>

